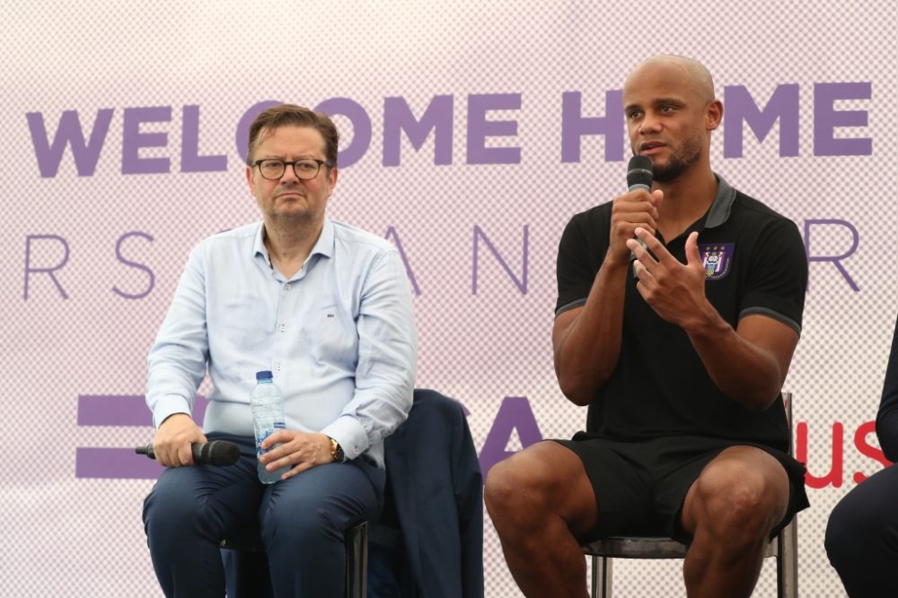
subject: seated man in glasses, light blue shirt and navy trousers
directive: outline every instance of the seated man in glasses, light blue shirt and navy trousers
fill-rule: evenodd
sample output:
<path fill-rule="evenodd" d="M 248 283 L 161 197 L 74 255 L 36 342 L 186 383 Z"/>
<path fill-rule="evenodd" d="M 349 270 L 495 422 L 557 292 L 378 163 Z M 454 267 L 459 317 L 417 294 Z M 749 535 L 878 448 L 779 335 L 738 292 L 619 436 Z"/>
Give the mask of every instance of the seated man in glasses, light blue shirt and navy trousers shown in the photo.
<path fill-rule="evenodd" d="M 145 500 L 167 596 L 225 593 L 219 542 L 258 525 L 278 596 L 343 594 L 344 533 L 383 507 L 383 438 L 411 408 L 417 343 L 409 282 L 383 238 L 330 221 L 338 133 L 282 105 L 250 128 L 246 177 L 263 221 L 207 238 L 181 276 L 149 356 L 154 453 L 168 469 Z M 256 473 L 249 397 L 269 369 L 286 429 Z M 191 417 L 208 375 L 204 429 Z M 241 447 L 229 467 L 195 465 L 190 446 Z M 279 445 L 279 446 L 277 446 Z"/>

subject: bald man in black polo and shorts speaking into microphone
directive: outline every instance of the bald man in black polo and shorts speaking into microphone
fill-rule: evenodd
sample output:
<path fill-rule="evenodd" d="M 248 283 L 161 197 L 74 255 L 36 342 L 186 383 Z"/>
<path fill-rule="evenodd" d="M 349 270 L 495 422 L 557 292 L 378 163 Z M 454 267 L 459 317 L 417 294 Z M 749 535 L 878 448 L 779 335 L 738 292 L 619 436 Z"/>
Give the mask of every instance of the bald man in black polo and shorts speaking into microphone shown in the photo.
<path fill-rule="evenodd" d="M 650 58 L 623 101 L 652 189 L 577 214 L 559 244 L 555 370 L 586 431 L 495 465 L 487 508 L 529 597 L 587 595 L 580 546 L 611 535 L 689 543 L 691 597 L 749 596 L 764 544 L 807 507 L 780 399 L 804 247 L 711 170 L 723 105 L 703 65 Z"/>

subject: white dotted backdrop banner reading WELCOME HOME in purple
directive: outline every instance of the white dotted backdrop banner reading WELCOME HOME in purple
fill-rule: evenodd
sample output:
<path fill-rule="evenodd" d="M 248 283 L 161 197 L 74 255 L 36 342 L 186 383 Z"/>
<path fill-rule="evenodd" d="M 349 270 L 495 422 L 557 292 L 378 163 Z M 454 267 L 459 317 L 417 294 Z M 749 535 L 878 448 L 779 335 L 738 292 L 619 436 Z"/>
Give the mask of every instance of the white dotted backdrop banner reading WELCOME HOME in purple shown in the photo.
<path fill-rule="evenodd" d="M 621 86 L 657 53 L 708 65 L 715 170 L 802 231 L 800 590 L 844 595 L 826 518 L 886 464 L 894 2 L 0 5 L 4 595 L 161 595 L 140 518 L 159 470 L 133 453 L 153 436 L 146 354 L 189 249 L 259 219 L 245 136 L 271 103 L 337 122 L 330 217 L 401 250 L 417 386 L 470 411 L 484 472 L 582 429 L 552 369 L 556 249 L 570 216 L 625 190 Z M 520 596 L 489 518 L 484 542 L 487 595 Z M 684 595 L 679 568 L 621 563 L 616 591 Z M 756 594 L 773 579 L 768 563 Z"/>

